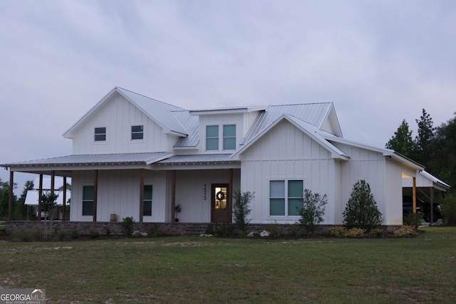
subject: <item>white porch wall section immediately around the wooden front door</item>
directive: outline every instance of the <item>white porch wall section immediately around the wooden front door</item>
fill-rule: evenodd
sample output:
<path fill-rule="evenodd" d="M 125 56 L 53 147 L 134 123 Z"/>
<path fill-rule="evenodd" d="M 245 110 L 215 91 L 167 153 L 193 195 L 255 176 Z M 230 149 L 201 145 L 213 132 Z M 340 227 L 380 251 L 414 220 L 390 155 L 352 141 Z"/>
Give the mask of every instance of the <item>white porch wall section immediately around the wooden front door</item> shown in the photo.
<path fill-rule="evenodd" d="M 240 170 L 233 169 L 233 190 L 240 187 Z M 182 170 L 176 174 L 177 214 L 182 223 L 209 223 L 211 221 L 211 186 L 228 184 L 229 169 Z"/>

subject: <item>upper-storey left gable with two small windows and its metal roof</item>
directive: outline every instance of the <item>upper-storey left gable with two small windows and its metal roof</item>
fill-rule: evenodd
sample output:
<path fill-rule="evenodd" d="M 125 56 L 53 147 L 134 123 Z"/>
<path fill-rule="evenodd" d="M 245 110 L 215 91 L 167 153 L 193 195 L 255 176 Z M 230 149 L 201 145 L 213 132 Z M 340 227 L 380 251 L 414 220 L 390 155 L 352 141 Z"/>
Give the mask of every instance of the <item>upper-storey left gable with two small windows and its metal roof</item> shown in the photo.
<path fill-rule="evenodd" d="M 114 154 L 171 151 L 187 136 L 172 114 L 181 108 L 114 88 L 63 137 L 73 140 L 73 154 Z"/>

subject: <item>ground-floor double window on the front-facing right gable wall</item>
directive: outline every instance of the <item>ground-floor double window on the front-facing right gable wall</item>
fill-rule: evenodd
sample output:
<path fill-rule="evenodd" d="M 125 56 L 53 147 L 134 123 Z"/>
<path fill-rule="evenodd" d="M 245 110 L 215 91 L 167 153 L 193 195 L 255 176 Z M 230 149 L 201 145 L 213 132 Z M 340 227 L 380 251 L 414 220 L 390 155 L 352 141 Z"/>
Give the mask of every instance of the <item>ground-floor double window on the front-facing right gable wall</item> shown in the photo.
<path fill-rule="evenodd" d="M 299 216 L 304 195 L 302 180 L 274 180 L 269 182 L 269 215 Z"/>

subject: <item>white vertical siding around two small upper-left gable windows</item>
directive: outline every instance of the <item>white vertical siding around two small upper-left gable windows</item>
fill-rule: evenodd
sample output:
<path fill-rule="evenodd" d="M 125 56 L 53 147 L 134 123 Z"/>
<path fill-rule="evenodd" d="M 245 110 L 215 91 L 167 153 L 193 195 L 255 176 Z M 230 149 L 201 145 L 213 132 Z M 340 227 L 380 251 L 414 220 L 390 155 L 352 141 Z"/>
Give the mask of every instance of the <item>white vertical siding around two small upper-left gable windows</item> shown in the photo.
<path fill-rule="evenodd" d="M 131 127 L 144 126 L 144 140 L 131 140 Z M 106 140 L 94 141 L 95 127 L 106 127 Z M 73 154 L 113 154 L 171 151 L 176 135 L 165 134 L 133 103 L 115 94 L 73 131 Z"/>

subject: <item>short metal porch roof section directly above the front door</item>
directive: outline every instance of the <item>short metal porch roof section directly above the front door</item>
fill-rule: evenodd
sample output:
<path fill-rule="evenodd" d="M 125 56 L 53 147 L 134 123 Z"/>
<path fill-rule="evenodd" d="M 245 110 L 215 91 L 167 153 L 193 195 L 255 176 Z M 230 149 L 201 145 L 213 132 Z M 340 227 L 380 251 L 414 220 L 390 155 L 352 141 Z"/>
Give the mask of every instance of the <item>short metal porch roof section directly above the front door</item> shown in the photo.
<path fill-rule="evenodd" d="M 217 169 L 240 168 L 239 160 L 231 159 L 232 154 L 191 154 L 175 155 L 155 162 L 156 169 Z"/>

